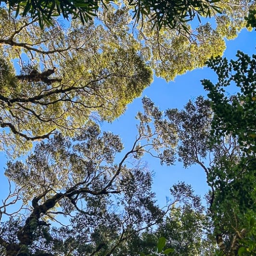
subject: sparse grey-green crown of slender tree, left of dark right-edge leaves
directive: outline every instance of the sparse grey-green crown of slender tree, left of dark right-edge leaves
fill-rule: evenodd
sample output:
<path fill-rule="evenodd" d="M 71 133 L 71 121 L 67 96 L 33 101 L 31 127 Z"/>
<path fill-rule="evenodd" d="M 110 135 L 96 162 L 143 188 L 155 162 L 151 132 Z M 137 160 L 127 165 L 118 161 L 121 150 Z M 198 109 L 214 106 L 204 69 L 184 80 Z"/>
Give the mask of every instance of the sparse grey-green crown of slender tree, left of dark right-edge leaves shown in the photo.
<path fill-rule="evenodd" d="M 166 116 L 178 130 L 179 161 L 188 167 L 198 162 L 196 155 L 205 158 L 212 121 L 210 102 L 199 96 L 195 102 L 190 100 L 183 110 L 168 109 Z"/>

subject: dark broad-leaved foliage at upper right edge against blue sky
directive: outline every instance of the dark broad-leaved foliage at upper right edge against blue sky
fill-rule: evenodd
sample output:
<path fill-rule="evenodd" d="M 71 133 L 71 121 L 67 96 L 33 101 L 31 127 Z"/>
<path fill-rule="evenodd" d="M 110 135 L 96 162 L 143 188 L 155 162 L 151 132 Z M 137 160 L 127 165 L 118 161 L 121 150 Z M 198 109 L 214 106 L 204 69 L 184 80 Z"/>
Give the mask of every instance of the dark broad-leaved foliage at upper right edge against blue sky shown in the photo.
<path fill-rule="evenodd" d="M 218 75 L 218 83 L 202 80 L 214 111 L 212 135 L 230 133 L 238 136 L 243 152 L 250 155 L 256 151 L 256 55 L 250 58 L 238 51 L 238 59 L 228 63 L 226 58 L 211 58 L 207 65 Z M 227 89 L 235 85 L 240 91 L 229 95 Z M 225 89 L 227 88 L 227 89 Z"/>

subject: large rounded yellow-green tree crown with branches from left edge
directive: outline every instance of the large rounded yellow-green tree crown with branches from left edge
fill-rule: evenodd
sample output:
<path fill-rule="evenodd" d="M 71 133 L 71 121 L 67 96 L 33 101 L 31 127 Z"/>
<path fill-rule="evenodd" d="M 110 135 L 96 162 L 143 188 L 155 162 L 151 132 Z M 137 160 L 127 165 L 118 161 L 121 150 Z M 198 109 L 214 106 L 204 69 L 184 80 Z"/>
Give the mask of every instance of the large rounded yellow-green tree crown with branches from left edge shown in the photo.
<path fill-rule="evenodd" d="M 65 31 L 55 23 L 42 31 L 4 9 L 0 14 L 0 126 L 9 128 L 1 133 L 4 146 L 14 147 L 16 140 L 27 149 L 29 141 L 48 138 L 56 129 L 71 135 L 90 115 L 111 121 L 152 81 L 134 40 L 127 38 L 125 46 L 92 24 Z"/>

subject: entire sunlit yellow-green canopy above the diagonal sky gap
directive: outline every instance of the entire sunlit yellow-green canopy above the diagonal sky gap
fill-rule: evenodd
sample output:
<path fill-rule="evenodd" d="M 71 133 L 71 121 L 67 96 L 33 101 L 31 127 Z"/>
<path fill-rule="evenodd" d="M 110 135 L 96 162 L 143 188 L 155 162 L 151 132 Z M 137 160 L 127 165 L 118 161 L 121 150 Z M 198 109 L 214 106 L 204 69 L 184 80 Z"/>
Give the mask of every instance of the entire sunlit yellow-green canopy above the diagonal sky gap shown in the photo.
<path fill-rule="evenodd" d="M 224 37 L 237 35 L 255 3 L 216 4 L 225 10 L 214 16 L 216 28 L 183 22 L 161 30 L 147 15 L 136 22 L 123 2 L 100 8 L 84 25 L 54 18 L 43 30 L 38 17 L 1 8 L 1 149 L 24 153 L 31 141 L 55 131 L 71 135 L 89 117 L 112 121 L 151 84 L 153 72 L 171 80 L 222 54 Z"/>

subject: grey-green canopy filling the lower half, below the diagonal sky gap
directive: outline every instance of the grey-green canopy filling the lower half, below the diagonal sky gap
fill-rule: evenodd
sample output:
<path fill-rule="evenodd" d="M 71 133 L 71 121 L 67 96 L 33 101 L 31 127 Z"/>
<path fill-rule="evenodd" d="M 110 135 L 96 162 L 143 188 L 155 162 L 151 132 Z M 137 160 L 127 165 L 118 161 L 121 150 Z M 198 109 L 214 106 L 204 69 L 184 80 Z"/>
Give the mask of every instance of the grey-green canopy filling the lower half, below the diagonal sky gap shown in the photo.
<path fill-rule="evenodd" d="M 255 252 L 255 156 L 246 158 L 232 133 L 215 140 L 215 114 L 202 96 L 183 110 L 168 109 L 166 116 L 148 98 L 143 105 L 138 135 L 118 162 L 120 138 L 101 134 L 90 122 L 73 139 L 56 134 L 25 163 L 8 163 L 5 175 L 15 190 L 1 206 L 1 215 L 11 216 L 2 228 L 3 252 L 154 255 L 162 236 L 173 255 Z M 185 167 L 201 166 L 210 188 L 207 209 L 184 182 L 170 189 L 171 199 L 160 209 L 143 154 L 167 165 L 178 158 Z M 12 212 L 13 204 L 20 209 Z"/>

